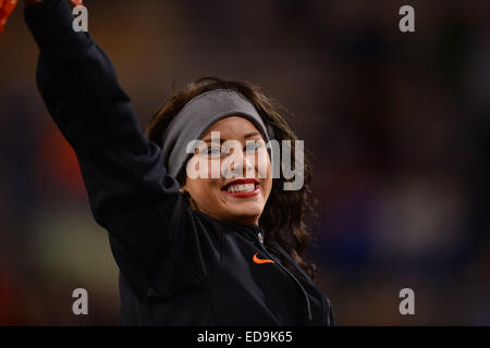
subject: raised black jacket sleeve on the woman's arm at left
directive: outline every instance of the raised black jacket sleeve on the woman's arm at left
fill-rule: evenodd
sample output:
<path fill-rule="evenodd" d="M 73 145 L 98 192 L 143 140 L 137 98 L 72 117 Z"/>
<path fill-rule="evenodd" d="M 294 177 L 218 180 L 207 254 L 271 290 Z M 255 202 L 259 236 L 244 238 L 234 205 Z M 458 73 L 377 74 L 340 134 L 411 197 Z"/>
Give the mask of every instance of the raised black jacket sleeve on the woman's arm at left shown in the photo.
<path fill-rule="evenodd" d="M 72 29 L 66 1 L 27 7 L 25 20 L 40 49 L 38 88 L 75 150 L 91 212 L 110 233 L 122 274 L 140 297 L 149 285 L 168 291 L 177 271 L 166 256 L 184 246 L 198 254 L 192 239 L 175 244 L 177 232 L 197 233 L 177 181 L 167 173 L 160 148 L 145 138 L 109 58 L 88 33 Z M 195 259 L 197 279 L 205 270 Z"/>

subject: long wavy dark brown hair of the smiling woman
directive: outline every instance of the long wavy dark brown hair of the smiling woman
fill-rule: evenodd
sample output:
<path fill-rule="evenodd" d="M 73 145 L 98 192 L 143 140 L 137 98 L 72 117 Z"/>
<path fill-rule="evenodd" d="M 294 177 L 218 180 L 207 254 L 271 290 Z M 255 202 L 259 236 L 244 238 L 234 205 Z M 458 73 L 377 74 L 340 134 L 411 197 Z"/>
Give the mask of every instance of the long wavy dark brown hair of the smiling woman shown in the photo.
<path fill-rule="evenodd" d="M 164 102 L 150 120 L 145 135 L 150 140 L 162 147 L 162 137 L 170 122 L 184 108 L 184 105 L 198 95 L 213 89 L 232 89 L 242 94 L 257 109 L 262 120 L 272 126 L 275 139 L 291 140 L 295 144 L 296 135 L 287 124 L 287 119 L 292 114 L 278 101 L 267 97 L 257 86 L 247 82 L 223 80 L 216 77 L 203 77 L 188 84 L 184 89 L 175 91 L 173 96 Z M 291 163 L 295 163 L 295 147 L 291 147 Z M 265 245 L 271 243 L 279 244 L 302 270 L 314 279 L 316 266 L 305 259 L 306 249 L 310 243 L 310 233 L 306 225 L 306 219 L 316 219 L 315 204 L 317 199 L 310 190 L 311 170 L 309 161 L 304 154 L 304 185 L 299 190 L 284 190 L 283 184 L 291 182 L 284 177 L 272 178 L 272 190 L 262 214 L 259 217 L 259 224 L 266 232 Z M 183 170 L 179 173 L 176 179 L 179 183 L 185 183 L 185 163 Z M 192 204 L 192 199 L 189 199 Z M 271 249 L 273 250 L 273 249 Z M 274 254 L 281 262 L 297 274 L 297 271 L 290 265 L 280 253 Z"/>

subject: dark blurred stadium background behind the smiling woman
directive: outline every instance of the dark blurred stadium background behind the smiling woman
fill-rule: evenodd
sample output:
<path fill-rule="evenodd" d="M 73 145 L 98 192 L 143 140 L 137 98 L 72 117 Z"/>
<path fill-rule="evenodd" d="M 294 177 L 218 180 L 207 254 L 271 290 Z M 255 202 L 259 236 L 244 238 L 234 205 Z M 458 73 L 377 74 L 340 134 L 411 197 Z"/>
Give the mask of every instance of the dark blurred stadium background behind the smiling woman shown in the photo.
<path fill-rule="evenodd" d="M 143 127 L 203 76 L 295 114 L 320 202 L 309 257 L 338 324 L 490 325 L 488 1 L 84 2 Z M 404 4 L 415 33 L 399 30 Z M 37 54 L 21 3 L 0 35 L 0 324 L 115 325 L 118 269 Z M 89 315 L 72 313 L 78 287 Z M 406 287 L 415 315 L 399 312 Z"/>

